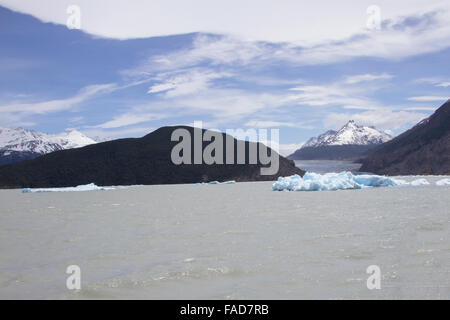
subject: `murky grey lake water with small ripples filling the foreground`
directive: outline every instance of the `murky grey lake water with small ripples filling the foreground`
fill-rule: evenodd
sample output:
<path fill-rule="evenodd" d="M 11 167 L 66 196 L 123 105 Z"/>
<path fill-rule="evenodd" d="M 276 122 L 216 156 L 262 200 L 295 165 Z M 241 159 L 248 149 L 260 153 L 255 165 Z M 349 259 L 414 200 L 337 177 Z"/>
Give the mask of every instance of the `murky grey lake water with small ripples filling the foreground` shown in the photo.
<path fill-rule="evenodd" d="M 449 299 L 450 187 L 425 178 L 317 192 L 0 190 L 0 298 Z M 81 290 L 66 288 L 69 265 Z M 367 288 L 370 265 L 381 289 Z"/>

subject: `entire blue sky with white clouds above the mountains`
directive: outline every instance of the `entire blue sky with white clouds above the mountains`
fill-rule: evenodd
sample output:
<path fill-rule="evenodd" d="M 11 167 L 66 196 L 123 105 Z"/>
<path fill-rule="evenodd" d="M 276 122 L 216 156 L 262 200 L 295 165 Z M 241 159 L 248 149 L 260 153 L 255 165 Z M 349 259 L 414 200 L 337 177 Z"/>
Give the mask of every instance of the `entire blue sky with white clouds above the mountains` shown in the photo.
<path fill-rule="evenodd" d="M 277 128 L 282 154 L 350 119 L 397 135 L 450 98 L 449 22 L 433 0 L 0 0 L 0 126 Z"/>

